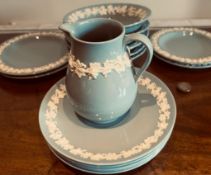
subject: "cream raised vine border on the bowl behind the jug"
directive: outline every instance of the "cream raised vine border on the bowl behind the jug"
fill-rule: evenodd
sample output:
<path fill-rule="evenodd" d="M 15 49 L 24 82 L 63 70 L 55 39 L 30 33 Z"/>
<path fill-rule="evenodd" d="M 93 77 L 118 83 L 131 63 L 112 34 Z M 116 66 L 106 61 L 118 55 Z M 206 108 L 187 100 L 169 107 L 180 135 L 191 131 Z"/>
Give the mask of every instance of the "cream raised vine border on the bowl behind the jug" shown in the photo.
<path fill-rule="evenodd" d="M 85 19 L 91 16 L 106 16 L 106 15 L 121 15 L 129 17 L 137 17 L 139 19 L 144 19 L 147 16 L 145 9 L 136 7 L 133 5 L 101 5 L 94 7 L 87 7 L 81 10 L 77 10 L 71 13 L 67 17 L 68 23 L 75 23 L 81 19 Z"/>

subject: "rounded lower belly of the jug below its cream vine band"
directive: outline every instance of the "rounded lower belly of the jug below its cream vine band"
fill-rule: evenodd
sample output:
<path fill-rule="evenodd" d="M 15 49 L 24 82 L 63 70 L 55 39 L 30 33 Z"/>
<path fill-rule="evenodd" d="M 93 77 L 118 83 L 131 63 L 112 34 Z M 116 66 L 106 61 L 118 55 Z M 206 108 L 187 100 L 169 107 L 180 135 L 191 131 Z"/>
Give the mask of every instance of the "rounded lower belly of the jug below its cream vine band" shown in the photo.
<path fill-rule="evenodd" d="M 126 113 L 136 97 L 137 86 L 131 69 L 112 72 L 105 79 L 79 79 L 68 70 L 67 91 L 75 111 L 94 122 L 111 122 Z"/>

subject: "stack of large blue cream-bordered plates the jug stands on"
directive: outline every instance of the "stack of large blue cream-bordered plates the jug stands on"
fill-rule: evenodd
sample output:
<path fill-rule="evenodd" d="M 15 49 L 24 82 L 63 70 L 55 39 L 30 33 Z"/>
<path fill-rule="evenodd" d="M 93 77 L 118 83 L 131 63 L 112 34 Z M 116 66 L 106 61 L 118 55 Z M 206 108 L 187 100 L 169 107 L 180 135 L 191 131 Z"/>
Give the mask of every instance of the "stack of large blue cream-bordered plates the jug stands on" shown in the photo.
<path fill-rule="evenodd" d="M 176 104 L 168 87 L 145 72 L 130 111 L 111 126 L 89 125 L 73 111 L 65 78 L 44 97 L 39 111 L 41 132 L 62 162 L 95 174 L 126 172 L 152 160 L 169 140 Z"/>

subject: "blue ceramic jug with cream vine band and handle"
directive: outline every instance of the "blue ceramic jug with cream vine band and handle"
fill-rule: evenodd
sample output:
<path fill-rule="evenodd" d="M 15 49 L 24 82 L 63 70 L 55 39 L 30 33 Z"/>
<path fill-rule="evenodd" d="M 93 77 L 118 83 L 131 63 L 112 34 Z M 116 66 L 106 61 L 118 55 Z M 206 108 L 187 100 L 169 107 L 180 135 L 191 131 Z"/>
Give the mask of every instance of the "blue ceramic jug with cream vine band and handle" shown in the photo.
<path fill-rule="evenodd" d="M 126 36 L 120 22 L 106 18 L 62 24 L 60 29 L 71 42 L 66 89 L 75 112 L 97 124 L 119 119 L 132 106 L 137 77 L 151 62 L 150 40 L 137 33 Z M 126 51 L 128 40 L 141 41 L 147 48 L 138 72 Z"/>

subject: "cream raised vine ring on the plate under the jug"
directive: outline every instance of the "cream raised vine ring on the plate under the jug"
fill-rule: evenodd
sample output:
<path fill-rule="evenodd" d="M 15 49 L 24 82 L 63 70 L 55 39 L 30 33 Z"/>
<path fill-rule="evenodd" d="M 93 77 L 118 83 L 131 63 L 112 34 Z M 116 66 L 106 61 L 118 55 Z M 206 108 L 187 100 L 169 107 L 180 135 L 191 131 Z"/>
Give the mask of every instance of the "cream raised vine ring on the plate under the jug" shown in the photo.
<path fill-rule="evenodd" d="M 83 159 L 90 159 L 92 161 L 114 161 L 118 159 L 126 159 L 131 156 L 140 154 L 141 152 L 150 149 L 153 144 L 158 142 L 159 138 L 164 134 L 170 117 L 170 105 L 168 103 L 166 92 L 162 90 L 156 83 L 152 82 L 151 79 L 147 77 L 139 78 L 138 84 L 144 86 L 150 94 L 155 97 L 157 105 L 159 107 L 159 118 L 157 121 L 157 127 L 154 130 L 153 135 L 145 138 L 143 142 L 135 145 L 127 150 L 122 150 L 120 152 L 105 152 L 96 153 L 90 152 L 89 150 L 81 147 L 76 147 L 71 144 L 58 128 L 56 118 L 58 116 L 58 106 L 62 99 L 67 95 L 65 85 L 60 84 L 55 90 L 54 94 L 50 97 L 47 103 L 47 109 L 45 111 L 45 123 L 49 133 L 49 137 L 58 145 L 61 149 L 68 151 L 69 154 L 74 156 L 79 156 Z"/>

